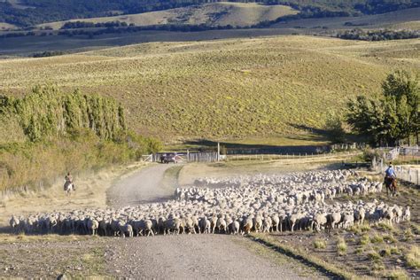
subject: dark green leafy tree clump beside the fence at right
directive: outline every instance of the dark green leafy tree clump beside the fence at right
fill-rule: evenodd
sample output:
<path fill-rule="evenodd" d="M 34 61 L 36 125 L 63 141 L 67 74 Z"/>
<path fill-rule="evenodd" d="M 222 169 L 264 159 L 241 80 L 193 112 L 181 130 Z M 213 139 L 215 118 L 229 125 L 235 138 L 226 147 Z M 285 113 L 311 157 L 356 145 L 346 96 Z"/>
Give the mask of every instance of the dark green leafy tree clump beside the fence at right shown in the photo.
<path fill-rule="evenodd" d="M 407 71 L 389 74 L 378 98 L 358 96 L 347 104 L 346 121 L 377 144 L 397 144 L 417 136 L 420 126 L 418 75 Z M 409 143 L 408 143 L 409 144 Z"/>

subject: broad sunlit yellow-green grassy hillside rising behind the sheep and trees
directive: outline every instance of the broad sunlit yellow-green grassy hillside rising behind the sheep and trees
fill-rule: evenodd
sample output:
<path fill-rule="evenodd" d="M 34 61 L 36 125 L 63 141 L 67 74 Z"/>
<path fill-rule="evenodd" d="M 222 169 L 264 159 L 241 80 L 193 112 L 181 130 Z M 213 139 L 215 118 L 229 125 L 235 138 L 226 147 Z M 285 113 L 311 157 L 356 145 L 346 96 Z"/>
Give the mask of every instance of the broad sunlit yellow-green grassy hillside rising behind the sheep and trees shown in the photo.
<path fill-rule="evenodd" d="M 323 128 L 348 97 L 379 92 L 395 68 L 420 69 L 420 43 L 282 36 L 144 43 L 0 61 L 1 89 L 40 82 L 115 97 L 128 125 L 167 141 L 252 138 Z"/>

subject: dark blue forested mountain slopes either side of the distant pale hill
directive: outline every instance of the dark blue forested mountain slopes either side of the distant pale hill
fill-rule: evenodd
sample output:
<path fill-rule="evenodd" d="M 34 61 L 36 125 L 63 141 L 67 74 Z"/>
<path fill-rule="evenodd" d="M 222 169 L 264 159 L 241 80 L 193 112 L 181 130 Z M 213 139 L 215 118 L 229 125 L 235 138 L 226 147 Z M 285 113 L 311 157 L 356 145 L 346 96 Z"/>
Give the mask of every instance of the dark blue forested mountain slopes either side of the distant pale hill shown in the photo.
<path fill-rule="evenodd" d="M 121 14 L 163 11 L 214 0 L 0 0 L 0 22 L 29 27 L 68 20 Z M 243 1 L 230 1 L 243 2 Z M 250 2 L 250 1 L 246 1 Z M 252 2 L 252 1 L 251 1 Z M 420 7 L 420 0 L 261 0 L 261 4 L 284 4 L 299 10 L 296 18 L 319 18 L 391 12 Z"/>

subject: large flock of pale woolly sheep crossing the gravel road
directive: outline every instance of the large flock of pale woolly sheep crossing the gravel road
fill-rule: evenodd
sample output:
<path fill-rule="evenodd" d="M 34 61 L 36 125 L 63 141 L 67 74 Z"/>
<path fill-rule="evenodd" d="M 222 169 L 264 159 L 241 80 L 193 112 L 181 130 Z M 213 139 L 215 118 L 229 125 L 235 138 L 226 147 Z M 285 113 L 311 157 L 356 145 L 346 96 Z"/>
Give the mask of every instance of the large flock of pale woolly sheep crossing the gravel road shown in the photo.
<path fill-rule="evenodd" d="M 382 183 L 346 170 L 292 175 L 253 175 L 202 179 L 196 187 L 176 189 L 175 199 L 120 209 L 85 209 L 13 216 L 15 232 L 154 236 L 180 233 L 247 234 L 250 231 L 331 230 L 364 220 L 401 222 L 409 207 L 372 202 L 339 203 L 341 195 L 382 191 Z"/>

